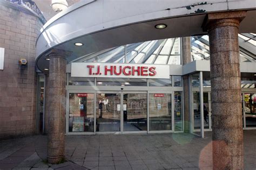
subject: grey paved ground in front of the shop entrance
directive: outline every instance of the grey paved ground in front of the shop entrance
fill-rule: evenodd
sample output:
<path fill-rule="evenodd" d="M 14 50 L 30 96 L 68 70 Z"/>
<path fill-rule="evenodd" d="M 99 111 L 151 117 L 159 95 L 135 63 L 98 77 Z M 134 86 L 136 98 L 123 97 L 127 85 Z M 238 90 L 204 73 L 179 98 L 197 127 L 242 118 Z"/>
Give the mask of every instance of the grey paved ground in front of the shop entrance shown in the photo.
<path fill-rule="evenodd" d="M 63 164 L 47 163 L 47 136 L 0 141 L 0 169 L 212 169 L 211 132 L 65 137 Z M 256 169 L 256 130 L 244 131 L 245 169 Z"/>

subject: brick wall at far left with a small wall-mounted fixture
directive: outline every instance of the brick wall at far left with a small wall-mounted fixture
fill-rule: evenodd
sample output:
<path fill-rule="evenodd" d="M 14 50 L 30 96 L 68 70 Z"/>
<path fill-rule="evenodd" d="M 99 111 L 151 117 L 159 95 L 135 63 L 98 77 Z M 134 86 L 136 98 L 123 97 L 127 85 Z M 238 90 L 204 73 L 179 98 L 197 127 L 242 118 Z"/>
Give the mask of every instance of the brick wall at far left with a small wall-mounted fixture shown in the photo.
<path fill-rule="evenodd" d="M 0 47 L 5 48 L 0 70 L 0 139 L 35 133 L 35 44 L 39 18 L 0 5 Z M 18 60 L 25 58 L 26 66 Z"/>

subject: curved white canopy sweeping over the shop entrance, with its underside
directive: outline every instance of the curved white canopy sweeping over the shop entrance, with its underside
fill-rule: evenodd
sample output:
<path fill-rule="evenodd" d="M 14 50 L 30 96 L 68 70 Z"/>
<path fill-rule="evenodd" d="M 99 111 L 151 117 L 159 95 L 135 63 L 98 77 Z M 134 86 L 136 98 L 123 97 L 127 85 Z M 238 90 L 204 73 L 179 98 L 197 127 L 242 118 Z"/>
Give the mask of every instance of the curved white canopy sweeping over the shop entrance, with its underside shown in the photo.
<path fill-rule="evenodd" d="M 205 34 L 201 25 L 206 13 L 247 11 L 240 32 L 256 32 L 255 0 L 85 0 L 70 6 L 49 20 L 37 39 L 36 56 L 43 56 L 51 48 L 72 52 L 70 60 L 134 42 L 172 37 Z M 164 30 L 154 29 L 159 23 L 167 24 Z M 76 47 L 75 42 L 84 46 Z M 44 59 L 37 59 L 42 70 L 48 66 Z"/>

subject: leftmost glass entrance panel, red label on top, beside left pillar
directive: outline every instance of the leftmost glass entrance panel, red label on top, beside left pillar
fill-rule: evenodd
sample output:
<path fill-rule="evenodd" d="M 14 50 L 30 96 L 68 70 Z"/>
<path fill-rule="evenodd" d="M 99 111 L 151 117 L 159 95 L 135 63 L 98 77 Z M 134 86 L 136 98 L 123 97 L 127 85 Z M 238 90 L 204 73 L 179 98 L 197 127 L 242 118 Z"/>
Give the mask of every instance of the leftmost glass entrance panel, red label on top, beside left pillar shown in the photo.
<path fill-rule="evenodd" d="M 93 132 L 94 94 L 69 94 L 69 132 Z"/>

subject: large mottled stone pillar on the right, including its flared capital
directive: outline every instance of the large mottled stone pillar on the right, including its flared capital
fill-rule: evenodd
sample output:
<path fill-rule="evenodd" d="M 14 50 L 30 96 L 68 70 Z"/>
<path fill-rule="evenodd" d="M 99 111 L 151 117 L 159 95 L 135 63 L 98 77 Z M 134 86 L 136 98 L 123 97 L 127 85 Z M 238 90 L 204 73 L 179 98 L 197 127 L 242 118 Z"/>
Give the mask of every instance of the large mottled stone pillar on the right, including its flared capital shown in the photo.
<path fill-rule="evenodd" d="M 244 169 L 238 28 L 245 11 L 207 15 L 211 56 L 213 169 Z"/>

